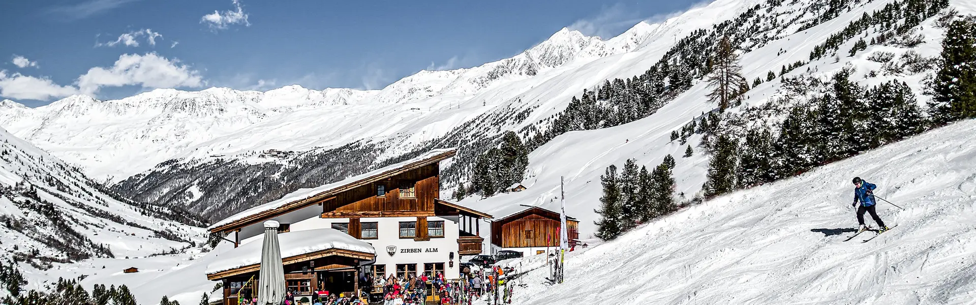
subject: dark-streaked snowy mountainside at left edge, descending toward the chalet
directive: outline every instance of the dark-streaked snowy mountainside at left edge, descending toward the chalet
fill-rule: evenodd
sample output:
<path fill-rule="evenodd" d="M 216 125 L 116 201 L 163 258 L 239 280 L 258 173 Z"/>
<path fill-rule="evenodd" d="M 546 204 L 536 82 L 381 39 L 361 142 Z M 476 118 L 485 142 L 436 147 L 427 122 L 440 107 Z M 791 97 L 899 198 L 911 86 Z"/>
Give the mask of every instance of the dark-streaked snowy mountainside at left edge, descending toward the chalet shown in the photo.
<path fill-rule="evenodd" d="M 200 220 L 185 211 L 122 198 L 3 129 L 0 222 L 0 257 L 42 270 L 178 251 L 206 240 Z"/>

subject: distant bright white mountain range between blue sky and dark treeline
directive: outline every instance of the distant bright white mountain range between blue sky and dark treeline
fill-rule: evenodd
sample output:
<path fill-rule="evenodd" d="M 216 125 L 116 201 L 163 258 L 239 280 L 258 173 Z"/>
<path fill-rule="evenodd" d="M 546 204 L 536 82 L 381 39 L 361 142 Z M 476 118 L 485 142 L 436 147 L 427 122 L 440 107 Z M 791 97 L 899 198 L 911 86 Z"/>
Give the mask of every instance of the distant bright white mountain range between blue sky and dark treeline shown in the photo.
<path fill-rule="evenodd" d="M 304 151 L 413 132 L 404 129 L 404 121 L 418 124 L 427 117 L 412 112 L 457 108 L 492 86 L 533 77 L 570 62 L 627 52 L 642 43 L 653 28 L 642 22 L 606 42 L 563 28 L 512 58 L 471 68 L 422 70 L 383 90 L 319 91 L 298 85 L 266 92 L 156 89 L 114 101 L 72 96 L 36 109 L 5 101 L 0 105 L 0 121 L 15 135 L 82 166 L 92 177 L 118 181 L 176 157 L 268 149 Z M 401 111 L 408 111 L 410 117 L 382 120 L 361 114 Z M 308 117 L 320 119 L 315 123 L 299 121 Z M 380 121 L 372 128 L 379 134 L 367 133 L 353 139 L 342 136 L 358 133 L 357 130 L 366 129 L 361 127 L 363 123 L 374 120 Z M 274 143 L 269 143 L 269 139 L 240 141 L 242 134 L 265 136 L 265 126 L 278 129 L 281 126 L 273 124 L 281 123 L 297 125 L 287 127 L 288 136 L 267 136 L 278 139 L 271 140 Z M 328 133 L 321 130 L 330 127 L 334 128 Z"/>

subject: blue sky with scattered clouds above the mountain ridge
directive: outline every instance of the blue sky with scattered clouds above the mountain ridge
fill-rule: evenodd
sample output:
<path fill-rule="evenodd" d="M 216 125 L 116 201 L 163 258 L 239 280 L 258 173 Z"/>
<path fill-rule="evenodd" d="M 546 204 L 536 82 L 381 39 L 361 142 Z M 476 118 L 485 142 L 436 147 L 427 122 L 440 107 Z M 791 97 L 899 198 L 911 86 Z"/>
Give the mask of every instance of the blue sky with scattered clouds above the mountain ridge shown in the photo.
<path fill-rule="evenodd" d="M 609 38 L 690 0 L 0 2 L 0 98 L 152 88 L 380 89 L 518 54 L 563 26 Z"/>

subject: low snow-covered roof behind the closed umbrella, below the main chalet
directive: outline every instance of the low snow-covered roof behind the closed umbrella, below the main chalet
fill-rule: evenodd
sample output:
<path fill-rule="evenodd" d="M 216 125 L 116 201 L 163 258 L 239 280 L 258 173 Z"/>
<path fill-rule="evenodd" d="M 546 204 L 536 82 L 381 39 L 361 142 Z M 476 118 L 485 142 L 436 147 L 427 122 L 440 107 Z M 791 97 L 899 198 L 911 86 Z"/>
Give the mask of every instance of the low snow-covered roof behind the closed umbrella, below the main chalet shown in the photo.
<path fill-rule="evenodd" d="M 217 260 L 207 265 L 207 274 L 237 269 L 261 263 L 263 240 L 254 240 L 217 254 Z M 376 254 L 372 244 L 335 229 L 316 229 L 282 233 L 278 235 L 281 258 L 288 258 L 328 249 L 344 249 Z"/>

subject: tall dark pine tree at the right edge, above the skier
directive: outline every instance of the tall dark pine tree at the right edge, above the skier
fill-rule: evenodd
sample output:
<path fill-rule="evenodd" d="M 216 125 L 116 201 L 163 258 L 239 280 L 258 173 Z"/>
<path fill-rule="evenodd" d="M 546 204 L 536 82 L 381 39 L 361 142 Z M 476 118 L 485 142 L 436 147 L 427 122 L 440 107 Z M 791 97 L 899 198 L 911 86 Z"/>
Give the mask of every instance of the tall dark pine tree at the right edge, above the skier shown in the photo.
<path fill-rule="evenodd" d="M 950 23 L 931 90 L 928 112 L 933 123 L 976 116 L 976 23 L 962 19 Z"/>

